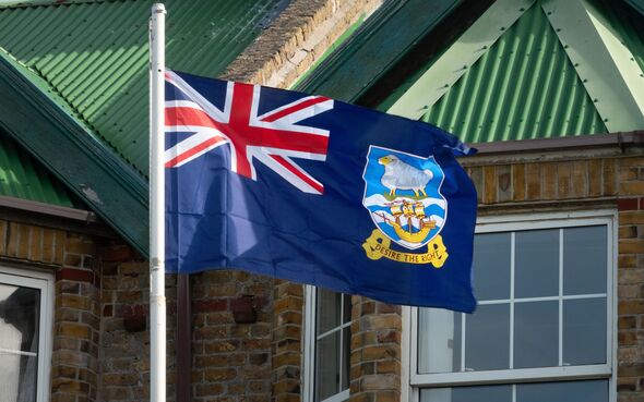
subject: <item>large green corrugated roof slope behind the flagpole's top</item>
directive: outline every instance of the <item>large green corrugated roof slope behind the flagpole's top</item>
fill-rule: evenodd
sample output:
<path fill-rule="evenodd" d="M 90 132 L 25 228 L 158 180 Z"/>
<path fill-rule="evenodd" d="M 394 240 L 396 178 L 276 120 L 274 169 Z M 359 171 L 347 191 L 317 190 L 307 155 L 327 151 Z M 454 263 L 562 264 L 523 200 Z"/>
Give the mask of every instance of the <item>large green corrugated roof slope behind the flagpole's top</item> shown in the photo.
<path fill-rule="evenodd" d="M 0 10 L 0 47 L 46 80 L 119 155 L 147 172 L 147 16 L 153 1 Z M 215 76 L 285 0 L 168 0 L 167 65 Z"/>

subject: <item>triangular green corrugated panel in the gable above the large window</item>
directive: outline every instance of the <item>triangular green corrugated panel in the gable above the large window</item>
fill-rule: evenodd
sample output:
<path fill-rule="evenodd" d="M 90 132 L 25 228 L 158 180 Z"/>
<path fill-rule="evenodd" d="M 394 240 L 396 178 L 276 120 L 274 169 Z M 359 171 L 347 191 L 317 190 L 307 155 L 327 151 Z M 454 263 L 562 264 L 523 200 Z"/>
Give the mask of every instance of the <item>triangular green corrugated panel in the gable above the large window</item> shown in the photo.
<path fill-rule="evenodd" d="M 607 132 L 539 2 L 422 120 L 467 143 Z"/>

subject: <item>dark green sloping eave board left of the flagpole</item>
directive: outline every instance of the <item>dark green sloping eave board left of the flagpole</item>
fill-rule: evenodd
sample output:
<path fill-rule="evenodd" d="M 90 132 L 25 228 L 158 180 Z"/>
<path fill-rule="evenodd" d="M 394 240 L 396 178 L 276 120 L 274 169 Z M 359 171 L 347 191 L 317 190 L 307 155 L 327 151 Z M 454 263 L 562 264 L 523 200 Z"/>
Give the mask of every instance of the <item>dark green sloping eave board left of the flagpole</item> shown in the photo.
<path fill-rule="evenodd" d="M 147 182 L 0 57 L 0 125 L 143 256 Z"/>

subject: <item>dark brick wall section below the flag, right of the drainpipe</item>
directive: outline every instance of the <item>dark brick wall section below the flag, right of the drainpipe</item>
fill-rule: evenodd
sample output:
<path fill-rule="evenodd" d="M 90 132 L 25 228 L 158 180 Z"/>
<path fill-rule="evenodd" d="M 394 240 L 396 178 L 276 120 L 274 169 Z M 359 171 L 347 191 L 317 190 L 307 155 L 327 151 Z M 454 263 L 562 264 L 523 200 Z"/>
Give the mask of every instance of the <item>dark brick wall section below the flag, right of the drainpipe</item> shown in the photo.
<path fill-rule="evenodd" d="M 273 279 L 217 270 L 193 275 L 191 283 L 192 400 L 271 400 Z M 238 324 L 235 312 L 247 302 L 254 318 Z"/>

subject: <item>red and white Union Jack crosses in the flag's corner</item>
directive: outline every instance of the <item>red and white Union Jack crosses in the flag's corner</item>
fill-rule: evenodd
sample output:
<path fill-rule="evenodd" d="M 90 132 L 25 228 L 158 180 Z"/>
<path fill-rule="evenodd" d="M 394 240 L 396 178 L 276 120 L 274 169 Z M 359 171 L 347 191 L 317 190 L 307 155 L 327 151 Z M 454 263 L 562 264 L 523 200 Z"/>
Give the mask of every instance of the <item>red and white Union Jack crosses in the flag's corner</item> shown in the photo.
<path fill-rule="evenodd" d="M 307 96 L 259 114 L 259 85 L 226 83 L 222 110 L 177 73 L 166 72 L 166 81 L 179 93 L 178 99 L 166 101 L 166 131 L 193 133 L 166 150 L 166 168 L 178 168 L 228 144 L 230 171 L 257 181 L 257 159 L 302 192 L 324 192 L 323 184 L 291 158 L 326 159 L 329 130 L 298 123 L 333 109 L 332 99 Z"/>

